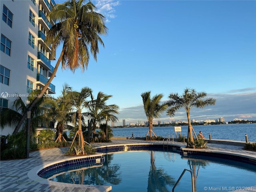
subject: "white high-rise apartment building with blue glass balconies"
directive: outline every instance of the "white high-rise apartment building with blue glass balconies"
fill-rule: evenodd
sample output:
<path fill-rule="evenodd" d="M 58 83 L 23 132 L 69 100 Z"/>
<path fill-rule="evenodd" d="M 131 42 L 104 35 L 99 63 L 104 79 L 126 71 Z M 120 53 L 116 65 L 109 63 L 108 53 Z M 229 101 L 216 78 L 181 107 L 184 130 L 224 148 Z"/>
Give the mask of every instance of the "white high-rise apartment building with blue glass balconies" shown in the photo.
<path fill-rule="evenodd" d="M 44 39 L 52 21 L 46 15 L 54 0 L 1 0 L 0 107 L 12 108 L 18 94 L 26 102 L 32 90 L 44 87 L 54 67 L 49 60 L 51 47 Z M 47 94 L 55 94 L 50 84 Z M 1 135 L 12 133 L 5 127 Z"/>

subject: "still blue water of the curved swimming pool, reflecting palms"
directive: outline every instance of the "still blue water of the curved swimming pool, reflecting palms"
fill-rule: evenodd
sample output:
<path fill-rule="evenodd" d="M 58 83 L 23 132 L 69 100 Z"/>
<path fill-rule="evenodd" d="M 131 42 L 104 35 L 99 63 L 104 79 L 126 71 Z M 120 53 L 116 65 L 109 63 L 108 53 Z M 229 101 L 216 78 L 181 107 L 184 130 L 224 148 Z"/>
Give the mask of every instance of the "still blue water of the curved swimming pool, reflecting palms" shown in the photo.
<path fill-rule="evenodd" d="M 102 165 L 63 172 L 50 180 L 111 185 L 111 192 L 171 192 L 184 168 L 193 171 L 198 192 L 256 185 L 256 166 L 206 156 L 182 157 L 177 152 L 156 150 L 106 154 Z M 185 172 L 175 191 L 191 191 L 190 172 Z"/>

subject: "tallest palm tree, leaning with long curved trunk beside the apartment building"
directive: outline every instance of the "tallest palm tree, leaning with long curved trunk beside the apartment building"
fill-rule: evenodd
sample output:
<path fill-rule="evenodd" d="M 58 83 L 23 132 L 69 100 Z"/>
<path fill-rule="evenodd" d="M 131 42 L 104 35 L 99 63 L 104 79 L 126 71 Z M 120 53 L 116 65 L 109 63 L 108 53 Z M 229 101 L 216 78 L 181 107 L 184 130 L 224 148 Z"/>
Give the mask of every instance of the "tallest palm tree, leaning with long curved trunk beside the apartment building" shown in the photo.
<path fill-rule="evenodd" d="M 48 14 L 48 18 L 56 23 L 47 33 L 44 41 L 47 46 L 52 48 L 50 59 L 53 60 L 56 57 L 56 50 L 60 44 L 62 44 L 62 51 L 51 77 L 42 88 L 39 96 L 31 102 L 24 112 L 13 132 L 14 134 L 17 134 L 22 122 L 26 119 L 27 111 L 31 110 L 46 92 L 56 75 L 60 62 L 62 62 L 62 69 L 69 68 L 74 72 L 77 68 L 81 68 L 83 72 L 85 68 L 87 69 L 90 53 L 97 61 L 98 43 L 104 47 L 100 35 L 106 35 L 108 28 L 105 26 L 105 17 L 94 11 L 96 10 L 94 4 L 90 1 L 85 4 L 84 1 L 68 0 L 63 4 L 56 4 Z"/>

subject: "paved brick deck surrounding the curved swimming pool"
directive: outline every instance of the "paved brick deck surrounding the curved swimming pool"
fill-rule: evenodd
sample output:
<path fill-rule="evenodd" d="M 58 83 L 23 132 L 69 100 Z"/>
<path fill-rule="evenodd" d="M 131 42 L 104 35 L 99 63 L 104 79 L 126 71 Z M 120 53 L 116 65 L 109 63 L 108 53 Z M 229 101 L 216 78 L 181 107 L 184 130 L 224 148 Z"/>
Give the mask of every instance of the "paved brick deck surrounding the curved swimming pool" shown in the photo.
<path fill-rule="evenodd" d="M 93 146 L 107 146 L 118 144 L 140 144 L 140 143 L 154 143 L 163 144 L 162 141 L 144 141 L 144 140 L 120 140 L 114 139 L 110 143 L 95 143 Z M 172 142 L 171 142 L 172 143 Z M 186 147 L 186 144 L 181 142 L 174 142 L 175 145 Z M 220 152 L 222 154 L 235 154 L 236 156 L 249 156 L 256 160 L 256 152 L 242 150 L 241 146 L 226 145 L 226 144 L 213 144 L 208 143 L 208 148 L 205 149 L 209 152 Z M 63 184 L 60 182 L 50 182 L 45 184 L 41 181 L 30 179 L 29 172 L 38 166 L 55 162 L 58 160 L 65 160 L 69 157 L 63 154 L 69 148 L 54 148 L 48 150 L 40 150 L 30 153 L 30 158 L 22 160 L 8 160 L 0 161 L 0 192 L 104 192 L 109 191 L 107 186 L 86 187 L 84 185 Z M 20 177 L 20 179 L 19 179 Z M 19 180 L 18 180 L 19 179 Z M 18 180 L 18 182 L 17 182 Z M 255 178 L 256 180 L 256 178 Z M 104 188 L 105 187 L 105 188 Z M 241 186 L 242 187 L 242 186 Z M 247 187 L 247 186 L 244 186 Z M 252 190 L 247 192 L 256 192 L 256 185 L 252 186 Z M 244 190 L 241 190 L 241 192 Z M 234 191 L 239 192 L 239 191 Z"/>

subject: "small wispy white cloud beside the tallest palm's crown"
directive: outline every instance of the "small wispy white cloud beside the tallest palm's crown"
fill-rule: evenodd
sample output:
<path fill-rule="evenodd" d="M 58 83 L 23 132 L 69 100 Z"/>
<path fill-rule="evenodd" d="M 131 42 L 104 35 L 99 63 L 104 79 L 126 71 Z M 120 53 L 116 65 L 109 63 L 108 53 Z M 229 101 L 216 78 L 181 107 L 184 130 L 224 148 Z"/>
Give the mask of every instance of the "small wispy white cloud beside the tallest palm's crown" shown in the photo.
<path fill-rule="evenodd" d="M 106 22 L 110 22 L 110 19 L 116 17 L 115 7 L 120 5 L 119 1 L 113 0 L 97 0 L 95 6 L 98 8 L 97 12 L 106 17 Z"/>

